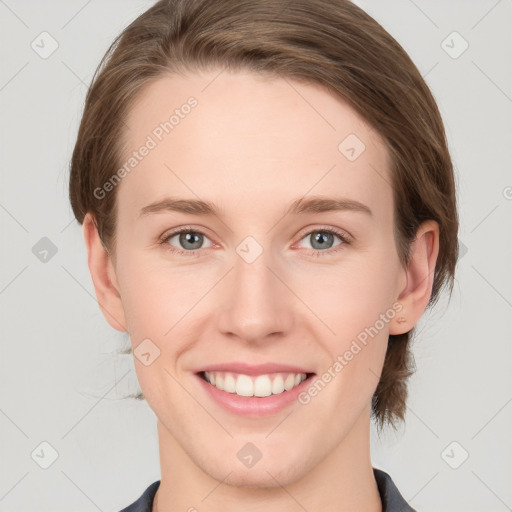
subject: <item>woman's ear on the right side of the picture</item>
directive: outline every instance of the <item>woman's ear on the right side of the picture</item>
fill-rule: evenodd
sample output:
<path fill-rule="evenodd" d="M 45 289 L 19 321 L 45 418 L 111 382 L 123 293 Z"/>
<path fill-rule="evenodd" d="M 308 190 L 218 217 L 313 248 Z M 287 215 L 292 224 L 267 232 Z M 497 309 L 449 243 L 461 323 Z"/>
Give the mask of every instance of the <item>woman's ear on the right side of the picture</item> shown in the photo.
<path fill-rule="evenodd" d="M 419 321 L 432 294 L 438 254 L 439 225 L 427 220 L 411 243 L 409 265 L 404 270 L 406 284 L 397 298 L 402 309 L 391 320 L 389 334 L 408 332 Z"/>

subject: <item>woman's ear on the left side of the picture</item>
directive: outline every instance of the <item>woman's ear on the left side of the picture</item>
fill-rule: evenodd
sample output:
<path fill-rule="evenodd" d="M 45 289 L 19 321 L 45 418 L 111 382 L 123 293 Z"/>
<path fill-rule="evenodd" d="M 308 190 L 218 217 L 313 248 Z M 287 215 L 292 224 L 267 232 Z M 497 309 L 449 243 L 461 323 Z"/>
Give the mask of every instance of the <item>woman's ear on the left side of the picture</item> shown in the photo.
<path fill-rule="evenodd" d="M 114 329 L 127 332 L 115 268 L 110 254 L 103 247 L 90 213 L 84 218 L 83 235 L 87 246 L 89 271 L 101 312 Z"/>

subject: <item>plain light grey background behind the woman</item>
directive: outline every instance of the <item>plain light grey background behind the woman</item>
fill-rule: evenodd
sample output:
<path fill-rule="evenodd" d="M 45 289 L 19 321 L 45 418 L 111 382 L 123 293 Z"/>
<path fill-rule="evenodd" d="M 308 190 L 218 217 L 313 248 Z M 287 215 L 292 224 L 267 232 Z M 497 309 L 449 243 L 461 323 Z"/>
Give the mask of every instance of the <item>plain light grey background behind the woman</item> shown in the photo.
<path fill-rule="evenodd" d="M 1 511 L 118 511 L 160 478 L 156 418 L 122 399 L 133 356 L 116 353 L 127 335 L 100 312 L 67 197 L 87 84 L 152 3 L 0 0 Z M 463 244 L 451 302 L 418 328 L 406 426 L 372 430 L 372 462 L 419 511 L 512 510 L 512 1 L 356 3 L 438 101 Z"/>

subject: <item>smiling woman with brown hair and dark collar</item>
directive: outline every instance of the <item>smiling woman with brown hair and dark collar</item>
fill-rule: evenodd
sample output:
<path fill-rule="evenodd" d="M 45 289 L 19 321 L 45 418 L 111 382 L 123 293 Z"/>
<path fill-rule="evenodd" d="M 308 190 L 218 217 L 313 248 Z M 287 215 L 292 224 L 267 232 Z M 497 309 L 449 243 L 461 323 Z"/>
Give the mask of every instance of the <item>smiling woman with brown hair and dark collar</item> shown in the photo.
<path fill-rule="evenodd" d="M 413 510 L 370 420 L 404 418 L 458 218 L 436 103 L 375 20 L 159 1 L 93 78 L 70 200 L 158 419 L 161 480 L 125 511 Z"/>

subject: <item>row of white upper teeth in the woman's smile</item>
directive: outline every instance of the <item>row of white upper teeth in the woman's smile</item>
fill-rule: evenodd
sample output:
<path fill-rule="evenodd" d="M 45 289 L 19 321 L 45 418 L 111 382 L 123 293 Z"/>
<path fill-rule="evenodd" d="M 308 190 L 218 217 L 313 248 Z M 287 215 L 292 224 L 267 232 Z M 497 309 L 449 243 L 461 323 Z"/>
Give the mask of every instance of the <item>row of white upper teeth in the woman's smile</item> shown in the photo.
<path fill-rule="evenodd" d="M 222 391 L 239 396 L 259 397 L 289 391 L 307 377 L 305 373 L 273 373 L 257 377 L 231 372 L 204 372 L 204 375 L 210 384 Z"/>

